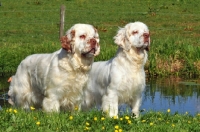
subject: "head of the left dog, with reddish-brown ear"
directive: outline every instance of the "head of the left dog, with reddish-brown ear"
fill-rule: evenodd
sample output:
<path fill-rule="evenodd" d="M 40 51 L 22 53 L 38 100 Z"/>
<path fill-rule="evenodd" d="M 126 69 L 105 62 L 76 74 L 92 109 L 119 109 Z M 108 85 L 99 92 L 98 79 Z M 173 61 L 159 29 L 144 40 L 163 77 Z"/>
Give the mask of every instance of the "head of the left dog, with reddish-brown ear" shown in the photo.
<path fill-rule="evenodd" d="M 84 57 L 93 57 L 100 53 L 99 34 L 97 29 L 89 24 L 75 24 L 60 41 L 62 48 L 68 53 Z"/>

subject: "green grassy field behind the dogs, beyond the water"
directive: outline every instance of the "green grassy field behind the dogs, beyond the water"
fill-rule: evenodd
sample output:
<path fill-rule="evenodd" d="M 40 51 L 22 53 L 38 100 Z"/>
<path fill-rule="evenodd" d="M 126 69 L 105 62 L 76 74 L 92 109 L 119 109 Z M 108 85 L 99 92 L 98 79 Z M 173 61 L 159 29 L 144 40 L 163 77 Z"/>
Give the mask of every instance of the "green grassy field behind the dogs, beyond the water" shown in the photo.
<path fill-rule="evenodd" d="M 12 0 L 0 6 L 0 72 L 15 72 L 27 55 L 60 48 L 60 6 L 66 6 L 65 31 L 75 23 L 94 25 L 101 54 L 108 60 L 117 46 L 118 27 L 142 21 L 151 31 L 148 75 L 200 75 L 200 5 L 197 0 Z"/>

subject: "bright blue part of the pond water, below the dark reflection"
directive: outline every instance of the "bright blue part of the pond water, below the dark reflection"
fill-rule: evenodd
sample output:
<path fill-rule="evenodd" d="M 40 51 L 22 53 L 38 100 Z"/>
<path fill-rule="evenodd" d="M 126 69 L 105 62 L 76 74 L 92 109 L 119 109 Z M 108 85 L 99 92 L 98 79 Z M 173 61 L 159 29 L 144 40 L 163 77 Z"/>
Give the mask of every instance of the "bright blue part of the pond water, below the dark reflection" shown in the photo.
<path fill-rule="evenodd" d="M 150 89 L 151 87 L 148 85 L 145 92 L 148 93 Z M 146 111 L 155 110 L 163 112 L 166 112 L 168 109 L 170 109 L 171 113 L 178 112 L 180 114 L 185 114 L 188 112 L 191 115 L 200 113 L 199 93 L 194 91 L 192 92 L 192 96 L 185 97 L 181 95 L 165 96 L 161 94 L 159 91 L 160 89 L 162 89 L 162 87 L 158 88 L 153 95 L 145 95 L 144 92 L 141 109 L 145 109 Z"/>

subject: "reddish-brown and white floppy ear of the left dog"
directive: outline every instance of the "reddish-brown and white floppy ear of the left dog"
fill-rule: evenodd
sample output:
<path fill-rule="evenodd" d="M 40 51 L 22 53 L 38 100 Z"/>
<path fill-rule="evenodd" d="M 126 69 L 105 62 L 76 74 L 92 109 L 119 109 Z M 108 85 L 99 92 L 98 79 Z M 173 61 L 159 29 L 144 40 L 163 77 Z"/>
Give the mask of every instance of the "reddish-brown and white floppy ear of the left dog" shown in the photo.
<path fill-rule="evenodd" d="M 70 30 L 67 32 L 66 36 L 62 36 L 60 38 L 61 46 L 63 49 L 67 50 L 69 53 L 73 53 L 73 45 L 72 45 L 72 39 L 75 36 L 75 30 Z"/>

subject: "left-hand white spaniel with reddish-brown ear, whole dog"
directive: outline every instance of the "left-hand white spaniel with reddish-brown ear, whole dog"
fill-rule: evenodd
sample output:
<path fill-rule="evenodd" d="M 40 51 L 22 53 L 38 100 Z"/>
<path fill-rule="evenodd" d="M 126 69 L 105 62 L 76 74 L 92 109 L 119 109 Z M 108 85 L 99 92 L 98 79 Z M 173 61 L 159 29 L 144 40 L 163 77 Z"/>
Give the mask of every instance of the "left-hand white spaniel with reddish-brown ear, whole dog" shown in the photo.
<path fill-rule="evenodd" d="M 91 25 L 75 24 L 60 40 L 60 50 L 30 55 L 20 63 L 9 87 L 10 104 L 47 112 L 79 107 L 94 56 L 100 52 L 99 35 Z"/>

